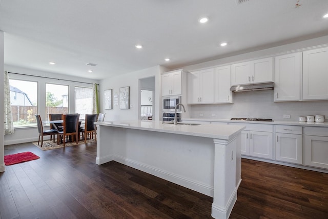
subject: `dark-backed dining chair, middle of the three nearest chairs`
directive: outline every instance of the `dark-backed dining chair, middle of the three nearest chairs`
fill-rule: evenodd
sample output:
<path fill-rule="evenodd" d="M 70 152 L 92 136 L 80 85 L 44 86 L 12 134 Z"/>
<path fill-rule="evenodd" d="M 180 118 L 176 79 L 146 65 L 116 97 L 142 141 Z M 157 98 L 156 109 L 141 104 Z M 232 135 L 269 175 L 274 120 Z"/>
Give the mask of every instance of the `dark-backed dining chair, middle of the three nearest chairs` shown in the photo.
<path fill-rule="evenodd" d="M 65 114 L 63 122 L 63 131 L 58 131 L 57 134 L 57 144 L 59 145 L 59 136 L 60 141 L 63 140 L 63 146 L 65 147 L 66 137 L 72 136 L 72 142 L 75 140 L 76 144 L 78 143 L 78 118 L 79 114 Z"/>

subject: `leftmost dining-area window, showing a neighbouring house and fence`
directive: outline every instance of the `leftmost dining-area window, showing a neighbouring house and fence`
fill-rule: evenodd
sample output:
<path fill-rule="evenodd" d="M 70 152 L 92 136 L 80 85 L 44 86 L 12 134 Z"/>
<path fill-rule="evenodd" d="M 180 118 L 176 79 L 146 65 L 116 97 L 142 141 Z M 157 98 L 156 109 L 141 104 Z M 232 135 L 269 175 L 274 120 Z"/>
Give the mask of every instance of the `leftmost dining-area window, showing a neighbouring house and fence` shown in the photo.
<path fill-rule="evenodd" d="M 14 128 L 36 126 L 37 82 L 9 79 Z"/>

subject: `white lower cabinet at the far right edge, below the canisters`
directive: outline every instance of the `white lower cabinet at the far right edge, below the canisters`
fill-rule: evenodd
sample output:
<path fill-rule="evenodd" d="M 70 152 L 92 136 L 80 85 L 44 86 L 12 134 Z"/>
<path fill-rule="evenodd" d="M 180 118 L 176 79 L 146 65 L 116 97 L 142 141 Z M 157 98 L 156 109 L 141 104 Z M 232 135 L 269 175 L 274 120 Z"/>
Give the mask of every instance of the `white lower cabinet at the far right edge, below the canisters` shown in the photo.
<path fill-rule="evenodd" d="M 328 169 L 328 128 L 305 127 L 305 165 Z"/>

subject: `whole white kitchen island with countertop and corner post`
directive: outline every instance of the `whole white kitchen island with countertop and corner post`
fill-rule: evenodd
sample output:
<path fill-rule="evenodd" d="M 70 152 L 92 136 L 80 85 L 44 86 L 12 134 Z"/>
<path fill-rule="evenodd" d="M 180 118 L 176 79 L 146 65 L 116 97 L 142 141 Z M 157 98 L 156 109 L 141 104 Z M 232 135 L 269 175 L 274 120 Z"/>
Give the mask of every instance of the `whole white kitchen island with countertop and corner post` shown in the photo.
<path fill-rule="evenodd" d="M 212 216 L 228 218 L 241 182 L 244 126 L 99 122 L 96 164 L 136 168 L 213 197 Z"/>

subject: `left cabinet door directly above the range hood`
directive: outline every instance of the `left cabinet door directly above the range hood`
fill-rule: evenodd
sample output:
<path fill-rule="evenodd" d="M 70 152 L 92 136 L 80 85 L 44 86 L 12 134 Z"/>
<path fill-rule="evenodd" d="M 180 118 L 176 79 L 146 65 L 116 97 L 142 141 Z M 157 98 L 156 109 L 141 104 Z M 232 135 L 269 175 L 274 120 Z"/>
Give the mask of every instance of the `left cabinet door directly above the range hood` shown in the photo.
<path fill-rule="evenodd" d="M 251 83 L 251 62 L 231 65 L 231 84 L 242 85 Z"/>

